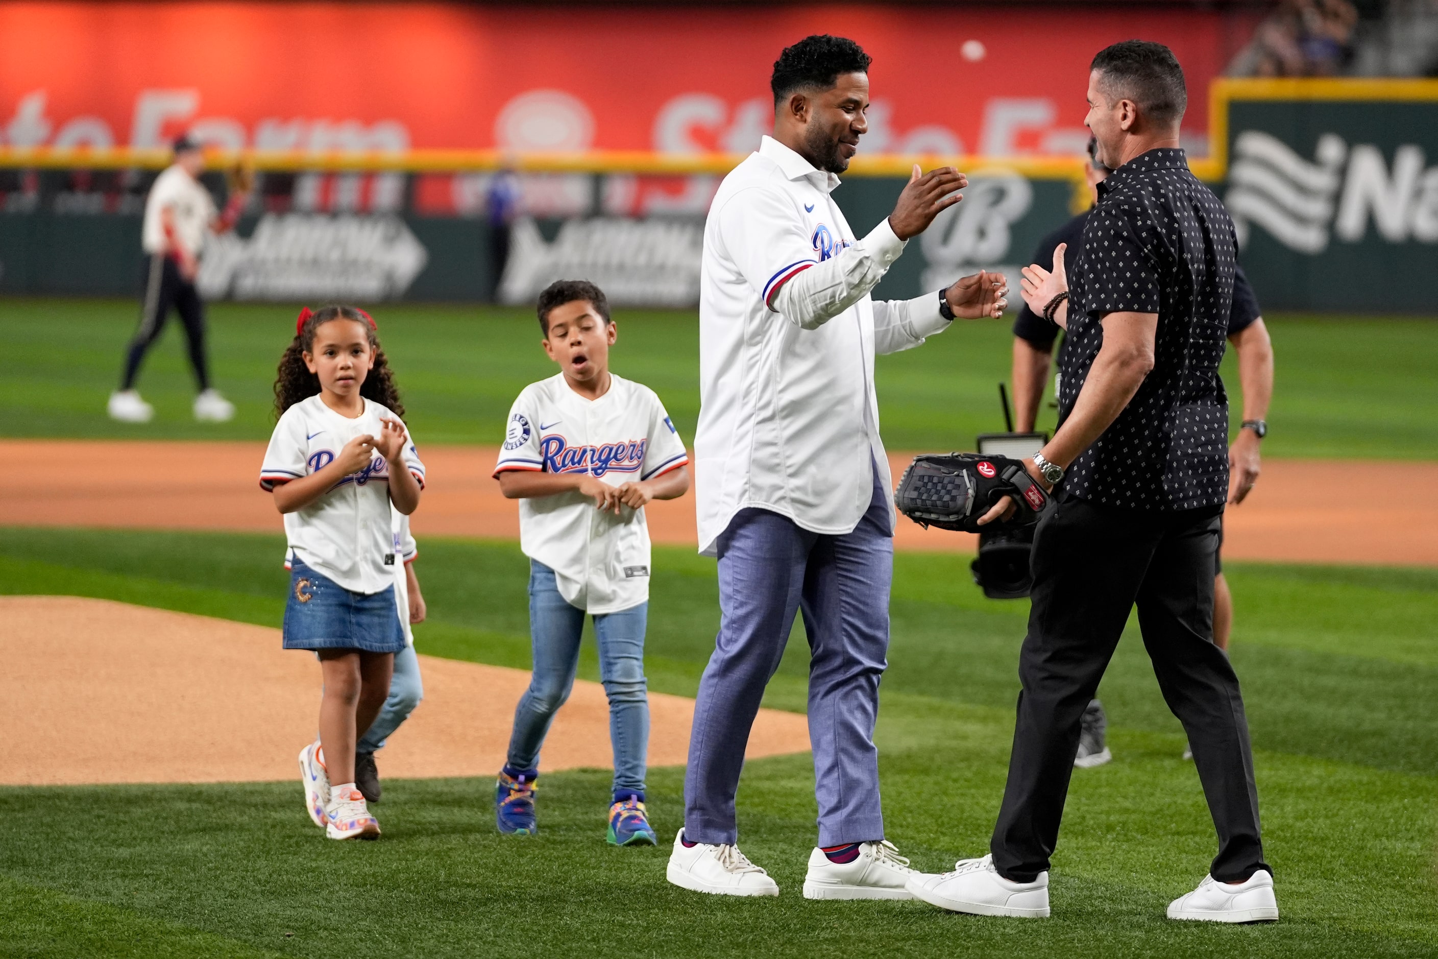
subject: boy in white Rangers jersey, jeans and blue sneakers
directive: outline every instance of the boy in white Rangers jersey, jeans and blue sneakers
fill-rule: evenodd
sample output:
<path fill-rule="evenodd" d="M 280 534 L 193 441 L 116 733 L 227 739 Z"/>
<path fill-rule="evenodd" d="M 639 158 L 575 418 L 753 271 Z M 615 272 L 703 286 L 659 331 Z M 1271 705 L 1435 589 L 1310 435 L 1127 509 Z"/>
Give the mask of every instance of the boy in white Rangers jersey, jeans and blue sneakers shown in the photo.
<path fill-rule="evenodd" d="M 644 809 L 650 571 L 644 503 L 689 490 L 689 454 L 654 391 L 610 372 L 618 329 L 598 286 L 551 283 L 539 295 L 539 328 L 561 372 L 529 384 L 515 400 L 495 467 L 503 495 L 519 500 L 533 641 L 533 677 L 515 709 L 495 818 L 500 832 L 536 830 L 539 748 L 574 686 L 588 612 L 614 748 L 608 841 L 653 845 Z"/>

